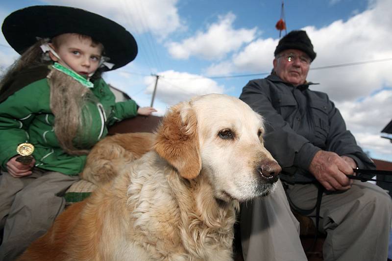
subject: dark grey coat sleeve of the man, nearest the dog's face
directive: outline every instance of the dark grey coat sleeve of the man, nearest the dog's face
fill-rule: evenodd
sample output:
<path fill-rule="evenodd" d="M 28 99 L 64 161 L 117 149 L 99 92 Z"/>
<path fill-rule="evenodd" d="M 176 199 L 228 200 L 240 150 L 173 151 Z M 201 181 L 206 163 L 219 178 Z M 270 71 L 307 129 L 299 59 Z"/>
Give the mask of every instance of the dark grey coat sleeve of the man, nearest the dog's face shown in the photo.
<path fill-rule="evenodd" d="M 240 99 L 263 116 L 265 145 L 282 168 L 297 166 L 308 170 L 320 149 L 297 134 L 272 105 L 266 79 L 252 80 L 243 88 Z"/>

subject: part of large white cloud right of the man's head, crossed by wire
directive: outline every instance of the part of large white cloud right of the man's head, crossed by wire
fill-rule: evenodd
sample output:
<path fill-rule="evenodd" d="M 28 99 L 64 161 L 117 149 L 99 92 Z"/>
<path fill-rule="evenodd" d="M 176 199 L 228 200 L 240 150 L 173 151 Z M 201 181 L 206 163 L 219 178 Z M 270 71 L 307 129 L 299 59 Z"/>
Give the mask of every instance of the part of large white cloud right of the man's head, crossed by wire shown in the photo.
<path fill-rule="evenodd" d="M 346 22 L 336 21 L 321 29 L 306 27 L 318 53 L 312 67 L 392 58 L 392 16 L 387 14 L 391 9 L 392 1 L 378 0 L 372 9 Z M 392 85 L 391 63 L 311 71 L 308 78 L 322 83 L 319 90 L 333 100 L 355 100 Z"/>

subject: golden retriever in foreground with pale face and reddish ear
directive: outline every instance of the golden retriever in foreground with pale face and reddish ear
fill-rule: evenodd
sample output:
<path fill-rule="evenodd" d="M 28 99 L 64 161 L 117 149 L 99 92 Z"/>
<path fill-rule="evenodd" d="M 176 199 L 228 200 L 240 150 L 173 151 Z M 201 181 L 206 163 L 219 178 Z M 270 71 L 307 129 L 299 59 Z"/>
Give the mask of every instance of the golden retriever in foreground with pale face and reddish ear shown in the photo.
<path fill-rule="evenodd" d="M 234 97 L 172 106 L 153 150 L 64 211 L 20 260 L 232 260 L 239 201 L 270 194 L 281 171 L 263 132 Z"/>

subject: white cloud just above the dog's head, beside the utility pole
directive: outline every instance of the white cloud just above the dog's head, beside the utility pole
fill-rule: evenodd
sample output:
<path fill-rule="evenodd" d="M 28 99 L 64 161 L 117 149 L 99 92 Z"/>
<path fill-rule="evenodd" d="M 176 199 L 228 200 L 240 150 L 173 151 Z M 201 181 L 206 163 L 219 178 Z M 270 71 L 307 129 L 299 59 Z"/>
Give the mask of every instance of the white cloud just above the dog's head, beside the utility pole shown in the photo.
<path fill-rule="evenodd" d="M 189 73 L 166 71 L 159 73 L 155 98 L 169 105 L 187 101 L 196 95 L 208 93 L 223 93 L 223 87 L 212 79 L 200 77 Z M 145 78 L 146 93 L 152 94 L 155 77 Z"/>

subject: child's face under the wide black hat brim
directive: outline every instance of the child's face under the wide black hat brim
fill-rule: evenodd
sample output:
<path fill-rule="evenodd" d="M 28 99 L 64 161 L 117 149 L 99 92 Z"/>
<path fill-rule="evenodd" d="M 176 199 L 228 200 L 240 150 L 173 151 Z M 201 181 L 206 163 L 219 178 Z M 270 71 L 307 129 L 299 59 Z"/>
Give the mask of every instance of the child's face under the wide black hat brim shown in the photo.
<path fill-rule="evenodd" d="M 96 45 L 91 38 L 81 37 L 74 33 L 57 36 L 56 42 L 56 46 L 51 44 L 51 47 L 61 60 L 49 52 L 53 61 L 63 66 L 69 66 L 73 71 L 84 76 L 88 76 L 98 69 L 103 50 L 101 44 Z"/>

